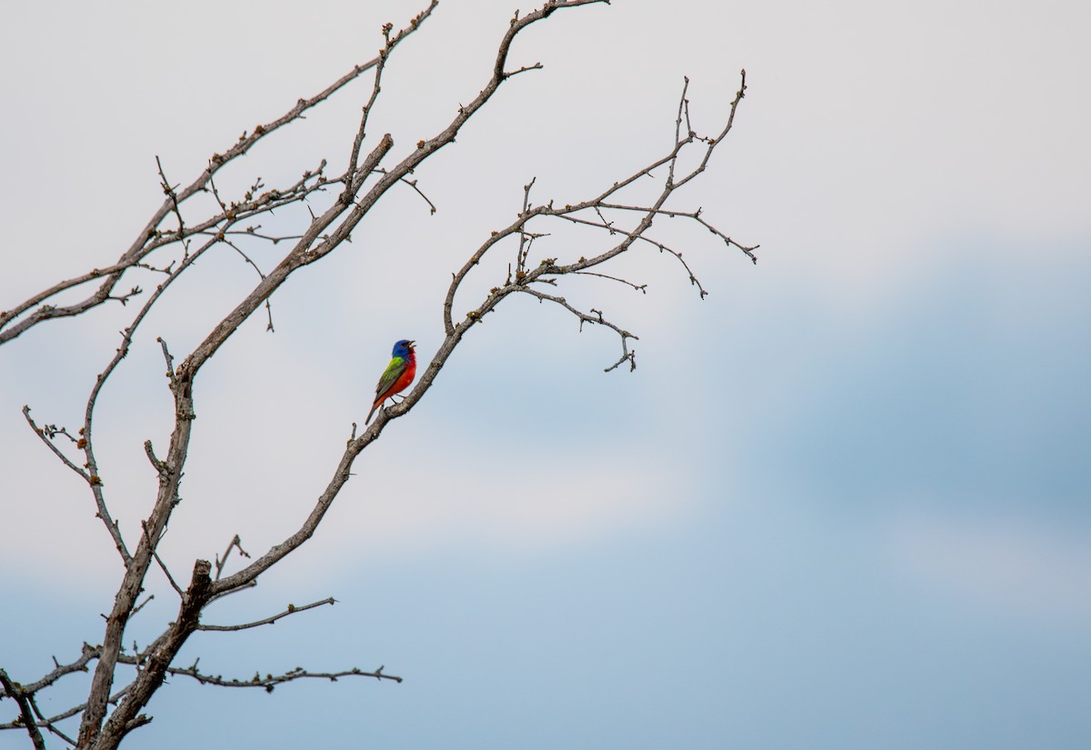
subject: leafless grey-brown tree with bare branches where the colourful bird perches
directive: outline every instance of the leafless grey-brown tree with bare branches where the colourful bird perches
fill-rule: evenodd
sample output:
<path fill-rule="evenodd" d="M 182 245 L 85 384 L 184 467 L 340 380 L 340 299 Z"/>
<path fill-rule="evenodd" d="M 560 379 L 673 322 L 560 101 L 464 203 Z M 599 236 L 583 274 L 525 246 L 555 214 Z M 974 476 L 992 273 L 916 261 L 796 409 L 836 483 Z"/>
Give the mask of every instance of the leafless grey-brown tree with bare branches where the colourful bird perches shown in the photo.
<path fill-rule="evenodd" d="M 413 173 L 427 159 L 454 142 L 456 135 L 493 97 L 496 90 L 513 77 L 542 68 L 540 63 L 513 68 L 508 51 L 516 37 L 531 24 L 567 10 L 606 0 L 549 0 L 541 8 L 511 19 L 506 33 L 500 40 L 495 63 L 488 72 L 480 92 L 468 104 L 458 108 L 449 123 L 432 137 L 419 141 L 404 158 L 388 162 L 394 146 L 391 134 L 375 135 L 369 131 L 369 117 L 380 97 L 383 74 L 391 64 L 401 43 L 412 35 L 436 8 L 433 0 L 404 28 L 392 24 L 382 28 L 384 44 L 379 55 L 356 65 L 332 85 L 314 96 L 299 101 L 281 117 L 243 133 L 229 148 L 212 155 L 207 167 L 188 184 L 172 183 L 161 165 L 159 178 L 165 199 L 147 223 L 140 230 L 132 244 L 112 264 L 74 276 L 34 294 L 25 301 L 0 313 L 0 344 L 31 331 L 41 324 L 63 317 L 84 315 L 100 305 L 120 302 L 122 305 L 143 302 L 123 331 L 112 358 L 97 376 L 86 400 L 83 423 L 74 432 L 56 424 L 39 423 L 29 407 L 23 408 L 26 422 L 43 444 L 86 484 L 110 543 L 123 566 L 113 605 L 106 615 L 101 643 L 84 643 L 79 654 L 69 661 L 55 660 L 56 667 L 32 681 L 16 682 L 0 669 L 0 698 L 11 699 L 16 707 L 13 721 L 0 724 L 0 729 L 25 733 L 34 747 L 46 747 L 45 733 L 51 733 L 63 742 L 77 748 L 116 748 L 125 736 L 148 722 L 143 713 L 152 695 L 169 676 L 190 677 L 202 684 L 250 687 L 272 690 L 274 686 L 302 678 L 334 679 L 344 676 L 365 676 L 375 679 L 400 680 L 387 675 L 382 667 L 370 672 L 357 668 L 338 672 L 312 673 L 296 669 L 279 675 L 255 675 L 251 679 L 225 679 L 205 674 L 197 662 L 190 666 L 176 663 L 179 650 L 187 640 L 202 630 L 242 630 L 275 622 L 305 609 L 333 604 L 325 598 L 305 606 L 289 606 L 269 617 L 252 622 L 230 626 L 212 626 L 202 622 L 202 612 L 211 603 L 230 596 L 256 584 L 260 576 L 279 564 L 314 534 L 323 517 L 349 480 L 353 461 L 368 446 L 382 435 L 386 425 L 409 413 L 432 386 L 440 371 L 463 338 L 490 313 L 497 310 L 505 299 L 525 294 L 539 302 L 550 303 L 575 316 L 580 327 L 603 326 L 616 335 L 619 351 L 611 358 L 606 371 L 627 364 L 636 367 L 636 351 L 632 342 L 637 337 L 609 319 L 598 309 L 579 309 L 571 304 L 561 292 L 563 277 L 592 276 L 603 282 L 626 285 L 640 292 L 643 285 L 612 271 L 612 262 L 639 247 L 655 250 L 671 257 L 681 273 L 703 298 L 706 291 L 683 258 L 682 252 L 666 241 L 657 239 L 652 226 L 661 217 L 676 217 L 693 222 L 711 233 L 717 242 L 738 250 L 756 262 L 756 246 L 745 246 L 708 221 L 699 208 L 679 208 L 670 204 L 675 191 L 695 180 L 709 165 L 717 146 L 732 128 L 735 110 L 745 92 L 745 72 L 730 104 L 726 122 L 718 132 L 700 135 L 691 126 L 688 81 L 682 88 L 674 117 L 673 145 L 659 158 L 637 166 L 631 173 L 604 186 L 601 191 L 563 205 L 554 201 L 537 203 L 533 197 L 535 180 L 525 186 L 521 208 L 507 226 L 489 232 L 481 244 L 469 252 L 465 263 L 453 274 L 442 304 L 442 342 L 423 366 L 421 375 L 405 399 L 379 412 L 377 418 L 362 432 L 353 423 L 344 452 L 325 489 L 313 503 L 305 520 L 291 535 L 271 546 L 260 555 L 243 551 L 242 541 L 235 536 L 221 556 L 214 561 L 197 559 L 189 581 L 179 580 L 165 565 L 158 547 L 167 531 L 172 512 L 179 504 L 179 484 L 185 469 L 191 445 L 191 426 L 194 418 L 194 383 L 205 364 L 221 350 L 227 340 L 255 313 L 264 309 L 267 327 L 273 329 L 269 298 L 297 270 L 316 263 L 340 249 L 350 239 L 353 228 L 380 199 L 395 185 L 405 184 L 417 191 L 434 213 L 435 208 L 413 179 Z M 241 195 L 228 196 L 217 188 L 217 177 L 231 167 L 239 157 L 248 154 L 257 143 L 271 138 L 278 130 L 301 118 L 314 107 L 340 93 L 356 78 L 372 76 L 370 94 L 362 106 L 359 128 L 351 143 L 345 144 L 347 156 L 344 168 L 331 176 L 325 160 L 303 171 L 298 179 L 278 188 L 269 188 L 255 180 Z M 683 156 L 690 160 L 683 162 Z M 688 166 L 683 166 L 683 165 Z M 204 203 L 202 203 L 204 201 Z M 265 233 L 259 221 L 273 211 L 289 206 L 307 208 L 307 218 L 298 231 Z M 564 256 L 547 257 L 536 253 L 536 242 L 549 234 L 549 226 L 561 222 L 580 228 L 588 239 L 583 244 L 566 250 Z M 279 262 L 262 269 L 252 259 L 255 245 L 265 250 L 286 246 Z M 541 246 L 538 244 L 537 246 Z M 173 427 L 169 445 L 158 451 L 151 440 L 144 443 L 144 452 L 158 477 L 154 499 L 141 522 L 141 531 L 127 537 L 110 511 L 109 497 L 96 458 L 95 427 L 99 394 L 124 360 L 133 346 L 134 336 L 148 312 L 171 292 L 172 285 L 193 264 L 209 253 L 237 253 L 253 266 L 257 282 L 252 290 L 217 323 L 203 340 L 180 361 L 170 351 L 168 342 L 157 339 L 166 365 L 169 390 L 173 399 Z M 464 282 L 475 275 L 487 254 L 506 253 L 509 257 L 506 274 L 493 280 L 494 286 L 470 303 L 468 312 L 459 291 Z M 491 256 L 490 256 L 491 257 Z M 135 274 L 155 275 L 158 282 L 149 294 L 139 285 L 129 286 Z M 128 287 L 128 289 L 127 289 Z M 71 290 L 91 289 L 82 300 L 60 303 Z M 461 307 L 456 307 L 456 303 Z M 237 555 L 239 567 L 228 572 L 226 564 Z M 178 614 L 172 622 L 152 642 L 133 649 L 124 648 L 127 626 L 146 603 L 144 592 L 152 586 L 149 574 L 154 569 L 163 577 L 178 597 Z M 38 697 L 69 675 L 93 672 L 86 701 L 53 715 L 44 714 L 38 707 Z M 79 717 L 79 729 L 67 728 L 67 722 Z M 71 734 L 70 734 L 71 733 Z"/>

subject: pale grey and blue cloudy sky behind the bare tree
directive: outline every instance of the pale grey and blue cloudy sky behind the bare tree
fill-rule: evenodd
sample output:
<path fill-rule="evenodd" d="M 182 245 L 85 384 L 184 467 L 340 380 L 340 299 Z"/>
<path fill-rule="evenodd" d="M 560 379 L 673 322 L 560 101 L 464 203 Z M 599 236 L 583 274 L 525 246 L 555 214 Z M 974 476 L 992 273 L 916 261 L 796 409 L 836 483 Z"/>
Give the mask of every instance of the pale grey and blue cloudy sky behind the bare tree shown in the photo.
<path fill-rule="evenodd" d="M 393 156 L 477 94 L 515 4 L 446 0 L 398 49 L 372 128 Z M 155 155 L 188 183 L 422 7 L 8 9 L 0 307 L 116 259 L 161 201 Z M 435 216 L 392 191 L 277 293 L 275 335 L 255 315 L 203 373 L 168 564 L 291 533 L 391 344 L 434 352 L 451 271 L 521 185 L 574 203 L 661 155 L 683 75 L 711 134 L 747 71 L 735 129 L 674 205 L 760 243 L 759 263 L 662 222 L 707 299 L 648 251 L 625 266 L 647 295 L 567 289 L 640 336 L 633 374 L 601 372 L 609 331 L 505 302 L 365 451 L 312 542 L 205 621 L 338 604 L 194 638 L 182 660 L 240 678 L 383 664 L 405 682 L 269 695 L 175 679 L 127 747 L 1088 747 L 1089 35 L 1075 1 L 616 0 L 533 26 L 512 64 L 544 70 L 419 170 Z M 221 191 L 343 164 L 367 80 Z M 599 246 L 551 241 L 561 257 Z M 142 443 L 171 424 L 155 338 L 184 356 L 254 281 L 227 254 L 196 271 L 99 403 L 130 534 L 155 487 Z M 131 312 L 0 348 L 0 666 L 19 680 L 101 640 L 120 573 L 89 494 L 20 409 L 75 428 Z M 176 612 L 155 585 L 141 643 Z M 69 680 L 43 710 L 85 695 Z M 0 734 L 15 747 L 25 734 Z"/>

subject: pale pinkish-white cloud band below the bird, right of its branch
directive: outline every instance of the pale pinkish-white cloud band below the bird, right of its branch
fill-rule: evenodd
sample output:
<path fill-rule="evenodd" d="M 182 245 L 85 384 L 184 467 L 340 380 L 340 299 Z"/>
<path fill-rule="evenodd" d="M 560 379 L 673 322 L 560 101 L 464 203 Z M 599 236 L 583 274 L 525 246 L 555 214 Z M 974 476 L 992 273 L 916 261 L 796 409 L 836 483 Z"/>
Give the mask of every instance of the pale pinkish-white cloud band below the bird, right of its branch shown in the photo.
<path fill-rule="evenodd" d="M 676 465 L 576 444 L 531 456 L 494 443 L 364 458 L 320 532 L 328 557 L 314 562 L 446 549 L 536 555 L 631 534 L 691 510 L 692 488 L 669 473 Z"/>

